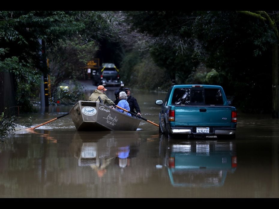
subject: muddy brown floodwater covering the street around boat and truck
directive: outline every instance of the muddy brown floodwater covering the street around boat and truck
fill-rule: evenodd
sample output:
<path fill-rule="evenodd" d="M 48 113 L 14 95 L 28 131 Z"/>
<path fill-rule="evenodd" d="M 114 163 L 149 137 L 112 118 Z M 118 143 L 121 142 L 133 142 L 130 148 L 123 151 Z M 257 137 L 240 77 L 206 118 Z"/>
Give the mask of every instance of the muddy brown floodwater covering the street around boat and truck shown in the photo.
<path fill-rule="evenodd" d="M 158 124 L 154 102 L 166 94 L 132 94 Z M 18 121 L 32 116 L 36 126 L 71 107 Z M 278 125 L 238 113 L 234 140 L 166 139 L 143 120 L 137 131 L 76 131 L 67 115 L 0 143 L 0 198 L 278 198 Z"/>

